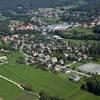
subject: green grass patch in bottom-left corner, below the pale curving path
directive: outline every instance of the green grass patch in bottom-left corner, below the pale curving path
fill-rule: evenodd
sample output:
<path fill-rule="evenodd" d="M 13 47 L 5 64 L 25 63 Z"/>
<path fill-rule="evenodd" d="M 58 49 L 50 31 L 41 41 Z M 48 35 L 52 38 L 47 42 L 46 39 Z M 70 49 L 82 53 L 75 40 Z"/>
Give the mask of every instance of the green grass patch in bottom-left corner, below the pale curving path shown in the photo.
<path fill-rule="evenodd" d="M 4 100 L 14 100 L 17 96 L 24 94 L 15 85 L 0 79 L 0 97 Z"/>

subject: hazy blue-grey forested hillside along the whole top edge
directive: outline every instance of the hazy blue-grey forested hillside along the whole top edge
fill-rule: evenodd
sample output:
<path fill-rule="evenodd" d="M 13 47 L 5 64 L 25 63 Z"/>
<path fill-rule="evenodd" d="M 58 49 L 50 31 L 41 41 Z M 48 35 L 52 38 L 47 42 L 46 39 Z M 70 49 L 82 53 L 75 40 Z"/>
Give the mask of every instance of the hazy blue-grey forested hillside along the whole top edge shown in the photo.
<path fill-rule="evenodd" d="M 82 6 L 86 2 L 87 4 Z M 0 9 L 56 7 L 81 5 L 82 9 L 100 7 L 100 0 L 0 0 Z"/>

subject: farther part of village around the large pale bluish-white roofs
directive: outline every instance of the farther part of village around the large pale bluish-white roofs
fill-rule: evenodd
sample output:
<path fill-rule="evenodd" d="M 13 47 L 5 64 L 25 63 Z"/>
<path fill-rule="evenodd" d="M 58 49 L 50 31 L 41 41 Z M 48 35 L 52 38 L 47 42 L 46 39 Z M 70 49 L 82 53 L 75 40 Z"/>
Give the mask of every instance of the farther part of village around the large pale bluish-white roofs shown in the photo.
<path fill-rule="evenodd" d="M 29 11 L 28 11 L 29 12 Z M 28 12 L 25 12 L 26 14 Z M 82 26 L 92 28 L 100 25 L 100 18 L 96 15 L 89 15 L 87 12 L 69 11 L 61 8 L 40 8 L 31 11 L 30 21 L 25 24 L 18 21 L 10 23 L 11 31 L 32 30 L 46 35 L 48 32 L 68 31 L 70 28 Z M 62 19 L 66 19 L 63 21 Z M 85 19 L 86 18 L 86 19 Z M 75 19 L 75 20 L 74 20 Z M 79 19 L 79 20 L 78 20 Z M 83 20 L 84 19 L 84 20 Z"/>

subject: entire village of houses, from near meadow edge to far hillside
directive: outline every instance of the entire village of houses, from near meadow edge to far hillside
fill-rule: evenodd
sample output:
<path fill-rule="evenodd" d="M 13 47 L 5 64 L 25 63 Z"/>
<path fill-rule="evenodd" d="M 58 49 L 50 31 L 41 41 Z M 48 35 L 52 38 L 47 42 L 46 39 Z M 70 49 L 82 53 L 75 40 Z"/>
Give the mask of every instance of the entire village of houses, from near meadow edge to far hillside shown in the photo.
<path fill-rule="evenodd" d="M 20 9 L 21 10 L 21 9 Z M 22 10 L 23 11 L 23 10 Z M 14 11 L 11 12 L 13 16 L 19 14 Z M 82 76 L 91 77 L 93 72 L 85 73 L 70 66 L 84 62 L 87 63 L 92 60 L 90 55 L 92 48 L 91 43 L 81 43 L 74 45 L 70 41 L 64 42 L 64 39 L 56 32 L 69 32 L 73 28 L 93 28 L 100 25 L 100 18 L 98 16 L 91 16 L 91 20 L 77 21 L 70 20 L 70 22 L 62 21 L 62 17 L 77 17 L 89 16 L 87 12 L 70 12 L 66 8 L 41 8 L 23 11 L 23 16 L 30 16 L 28 22 L 19 20 L 10 20 L 9 29 L 10 35 L 1 35 L 1 40 L 8 44 L 10 43 L 10 50 L 1 48 L 1 52 L 9 53 L 12 50 L 22 53 L 25 57 L 18 61 L 26 65 L 37 65 L 44 70 L 54 70 L 57 72 L 71 73 L 69 79 L 79 81 Z M 1 14 L 2 16 L 2 14 Z M 63 18 L 64 19 L 64 18 Z M 83 20 L 83 19 L 81 19 Z M 53 34 L 52 34 L 53 33 Z M 2 59 L 5 59 L 4 61 Z M 7 57 L 1 57 L 1 62 L 7 62 Z M 79 67 L 79 66 L 78 66 Z M 94 74 L 96 74 L 94 72 Z M 90 75 L 89 75 L 90 74 Z"/>

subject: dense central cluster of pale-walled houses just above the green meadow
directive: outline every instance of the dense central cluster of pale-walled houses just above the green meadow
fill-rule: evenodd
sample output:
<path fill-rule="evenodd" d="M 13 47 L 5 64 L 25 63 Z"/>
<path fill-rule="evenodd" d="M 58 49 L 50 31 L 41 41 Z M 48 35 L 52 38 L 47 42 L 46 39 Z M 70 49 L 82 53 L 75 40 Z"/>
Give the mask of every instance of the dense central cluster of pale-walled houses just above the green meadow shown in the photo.
<path fill-rule="evenodd" d="M 4 37 L 5 36 L 3 36 L 2 39 L 4 39 Z M 7 38 L 6 43 L 7 41 L 12 41 L 13 48 L 24 53 L 25 64 L 40 64 L 47 69 L 53 68 L 57 71 L 62 71 L 64 68 L 69 67 L 66 65 L 68 61 L 87 60 L 89 58 L 88 52 L 91 48 L 88 44 L 73 46 L 53 36 L 45 36 L 44 40 L 39 36 L 34 37 L 29 34 L 17 34 L 8 37 L 5 37 Z M 57 50 L 61 50 L 61 54 L 56 52 Z M 57 55 L 61 55 L 61 57 L 59 58 Z"/>

